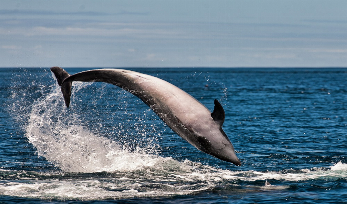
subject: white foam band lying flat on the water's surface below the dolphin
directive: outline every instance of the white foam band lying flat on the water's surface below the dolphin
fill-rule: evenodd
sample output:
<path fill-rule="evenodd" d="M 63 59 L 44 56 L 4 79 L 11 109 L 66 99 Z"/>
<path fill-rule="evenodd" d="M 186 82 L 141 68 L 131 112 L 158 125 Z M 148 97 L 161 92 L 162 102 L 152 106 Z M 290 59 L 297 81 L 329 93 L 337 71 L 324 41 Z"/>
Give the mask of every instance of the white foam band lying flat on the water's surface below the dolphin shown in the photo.
<path fill-rule="evenodd" d="M 160 159 L 158 159 L 160 160 Z M 157 160 L 157 162 L 158 162 Z M 158 164 L 158 163 L 157 163 Z M 334 166 L 346 165 L 343 163 Z M 168 168 L 169 166 L 169 168 Z M 345 169 L 338 170 L 296 170 L 297 173 L 287 172 L 258 172 L 258 171 L 230 171 L 216 169 L 208 165 L 194 163 L 186 160 L 177 162 L 162 158 L 161 165 L 155 168 L 142 168 L 140 171 L 110 173 L 106 178 L 94 176 L 86 179 L 83 174 L 75 178 L 66 173 L 35 173 L 35 172 L 9 172 L 7 180 L 0 183 L 0 194 L 19 197 L 34 197 L 42 199 L 107 199 L 127 197 L 151 197 L 209 190 L 216 186 L 229 186 L 232 191 L 241 190 L 233 181 L 262 181 L 261 185 L 243 185 L 249 190 L 286 190 L 290 185 L 276 185 L 274 180 L 296 183 L 307 180 L 338 180 L 347 175 Z M 1 170 L 0 170 L 1 171 Z M 293 171 L 293 170 L 291 170 Z M 342 171 L 342 172 L 341 172 Z M 34 178 L 33 178 L 34 176 Z M 41 180 L 45 176 L 55 179 Z M 60 179 L 57 179 L 59 176 Z M 15 181 L 11 177 L 20 181 Z M 29 180 L 28 180 L 29 178 Z M 61 179 L 63 178 L 63 179 Z M 242 182 L 241 182 L 242 183 Z M 154 187 L 153 187 L 154 186 Z M 235 188 L 233 188 L 235 187 Z M 122 190 L 120 190 L 122 189 Z"/>

